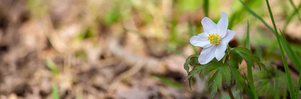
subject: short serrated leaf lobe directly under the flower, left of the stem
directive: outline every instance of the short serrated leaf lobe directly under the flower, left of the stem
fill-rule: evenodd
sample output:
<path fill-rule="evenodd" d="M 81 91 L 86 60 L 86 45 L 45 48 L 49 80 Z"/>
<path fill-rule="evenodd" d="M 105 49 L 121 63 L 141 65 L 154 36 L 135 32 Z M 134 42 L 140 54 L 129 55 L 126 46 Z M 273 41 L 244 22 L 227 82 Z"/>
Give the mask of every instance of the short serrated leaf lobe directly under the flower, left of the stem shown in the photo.
<path fill-rule="evenodd" d="M 231 84 L 231 74 L 230 70 L 227 64 L 224 64 L 221 68 L 222 75 L 223 75 L 223 81 L 226 82 L 228 86 Z"/>

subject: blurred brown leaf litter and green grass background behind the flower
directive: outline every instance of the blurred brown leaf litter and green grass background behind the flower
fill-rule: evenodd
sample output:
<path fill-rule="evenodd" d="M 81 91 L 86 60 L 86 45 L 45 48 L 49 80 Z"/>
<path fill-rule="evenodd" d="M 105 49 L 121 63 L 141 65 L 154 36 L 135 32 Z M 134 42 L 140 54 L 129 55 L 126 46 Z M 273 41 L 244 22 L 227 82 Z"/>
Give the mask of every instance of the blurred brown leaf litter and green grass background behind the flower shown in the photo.
<path fill-rule="evenodd" d="M 244 2 L 272 26 L 265 0 Z M 300 56 L 300 15 L 289 0 L 269 3 Z M 190 90 L 183 64 L 195 54 L 189 39 L 203 32 L 201 20 L 217 23 L 222 11 L 236 31 L 229 46 L 245 46 L 249 21 L 252 52 L 277 68 L 286 89 L 275 36 L 239 0 L 0 0 L 0 99 L 210 99 L 207 77 L 196 76 Z M 262 82 L 275 75 L 254 73 L 263 75 L 254 77 L 257 95 L 269 99 L 273 82 Z M 229 99 L 224 86 L 215 98 Z"/>

